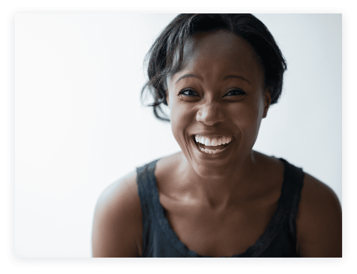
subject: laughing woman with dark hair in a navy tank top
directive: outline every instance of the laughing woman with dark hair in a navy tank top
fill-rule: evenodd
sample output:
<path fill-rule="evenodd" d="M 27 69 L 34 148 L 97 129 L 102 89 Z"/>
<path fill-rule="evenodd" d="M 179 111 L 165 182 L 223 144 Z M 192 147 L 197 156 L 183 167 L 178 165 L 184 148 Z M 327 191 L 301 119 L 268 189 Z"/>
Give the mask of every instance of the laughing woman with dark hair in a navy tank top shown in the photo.
<path fill-rule="evenodd" d="M 93 257 L 342 257 L 336 194 L 252 150 L 286 63 L 251 14 L 180 14 L 149 51 L 148 88 L 182 151 L 109 186 Z M 142 93 L 143 95 L 143 93 Z"/>

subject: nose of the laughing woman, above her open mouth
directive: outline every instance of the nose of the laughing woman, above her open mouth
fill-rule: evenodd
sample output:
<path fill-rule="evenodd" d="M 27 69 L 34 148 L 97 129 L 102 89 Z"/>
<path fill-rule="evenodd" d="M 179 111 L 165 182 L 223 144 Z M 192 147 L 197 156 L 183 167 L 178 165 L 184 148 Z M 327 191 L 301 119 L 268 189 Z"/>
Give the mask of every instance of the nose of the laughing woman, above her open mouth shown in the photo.
<path fill-rule="evenodd" d="M 203 104 L 196 114 L 196 120 L 212 126 L 224 121 L 224 114 L 217 103 L 209 101 Z"/>

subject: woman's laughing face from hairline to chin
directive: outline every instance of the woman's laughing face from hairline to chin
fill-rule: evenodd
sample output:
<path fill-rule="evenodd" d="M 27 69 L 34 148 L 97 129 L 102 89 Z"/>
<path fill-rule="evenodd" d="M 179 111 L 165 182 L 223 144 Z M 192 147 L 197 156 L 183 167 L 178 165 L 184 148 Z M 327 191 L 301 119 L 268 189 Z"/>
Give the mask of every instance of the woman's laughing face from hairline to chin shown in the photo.
<path fill-rule="evenodd" d="M 247 42 L 224 31 L 193 35 L 180 70 L 167 78 L 167 90 L 173 135 L 200 177 L 226 178 L 247 161 L 271 101 Z M 210 145 L 214 137 L 232 141 L 209 154 L 201 151 L 196 135 L 208 137 Z"/>

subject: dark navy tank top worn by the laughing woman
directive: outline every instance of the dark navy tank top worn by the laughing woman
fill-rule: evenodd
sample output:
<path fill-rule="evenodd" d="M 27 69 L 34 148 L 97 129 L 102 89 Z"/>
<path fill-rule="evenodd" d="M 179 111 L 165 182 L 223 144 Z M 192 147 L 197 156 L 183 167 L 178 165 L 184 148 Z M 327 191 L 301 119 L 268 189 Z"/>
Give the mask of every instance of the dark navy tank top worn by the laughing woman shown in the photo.
<path fill-rule="evenodd" d="M 159 202 L 155 168 L 159 159 L 137 168 L 137 184 L 143 211 L 143 254 L 145 258 L 204 257 L 189 250 L 170 227 Z M 298 257 L 296 255 L 295 219 L 300 201 L 304 173 L 283 161 L 284 182 L 281 196 L 270 223 L 257 242 L 237 257 Z"/>

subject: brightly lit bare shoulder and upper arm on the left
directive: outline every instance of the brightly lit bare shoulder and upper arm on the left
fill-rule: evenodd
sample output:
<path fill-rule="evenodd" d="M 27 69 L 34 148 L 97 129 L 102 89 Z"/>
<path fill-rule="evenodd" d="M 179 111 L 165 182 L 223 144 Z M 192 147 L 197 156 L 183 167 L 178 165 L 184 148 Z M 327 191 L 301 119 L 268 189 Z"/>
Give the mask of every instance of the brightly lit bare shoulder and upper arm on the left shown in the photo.
<path fill-rule="evenodd" d="M 93 257 L 138 257 L 142 210 L 136 172 L 110 184 L 100 194 L 92 230 Z"/>

